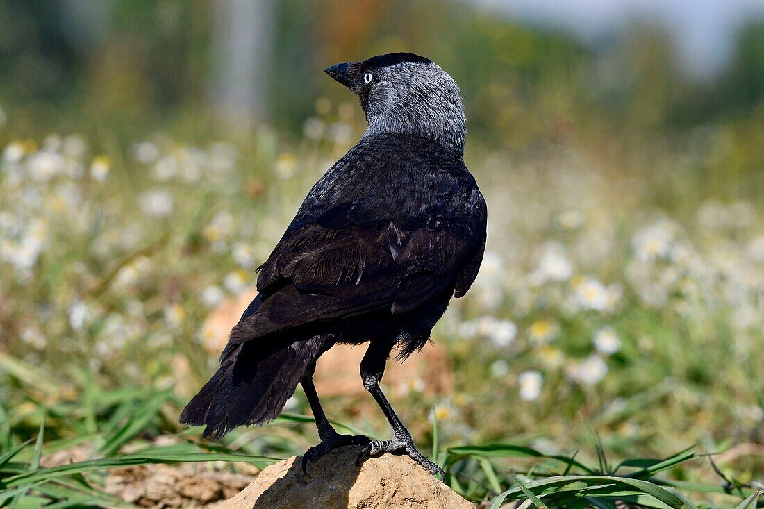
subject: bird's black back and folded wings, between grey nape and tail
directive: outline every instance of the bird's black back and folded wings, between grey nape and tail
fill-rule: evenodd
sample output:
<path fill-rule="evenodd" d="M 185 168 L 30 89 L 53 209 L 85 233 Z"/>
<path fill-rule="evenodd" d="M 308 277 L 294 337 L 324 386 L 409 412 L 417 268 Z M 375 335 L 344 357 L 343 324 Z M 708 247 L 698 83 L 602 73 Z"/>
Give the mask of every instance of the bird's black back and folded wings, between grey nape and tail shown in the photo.
<path fill-rule="evenodd" d="M 437 144 L 377 138 L 311 190 L 258 267 L 261 306 L 233 329 L 231 344 L 466 293 L 485 245 L 485 203 L 474 179 Z M 406 157 L 389 157 L 395 148 Z M 380 151 L 387 156 L 369 155 Z"/>

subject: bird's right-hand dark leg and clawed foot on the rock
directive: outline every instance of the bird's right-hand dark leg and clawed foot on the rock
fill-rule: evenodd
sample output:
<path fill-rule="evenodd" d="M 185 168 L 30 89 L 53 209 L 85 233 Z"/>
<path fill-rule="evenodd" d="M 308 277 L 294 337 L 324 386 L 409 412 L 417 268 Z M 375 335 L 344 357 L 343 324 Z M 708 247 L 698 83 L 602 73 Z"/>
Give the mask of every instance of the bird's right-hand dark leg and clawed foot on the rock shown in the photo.
<path fill-rule="evenodd" d="M 382 409 L 387 422 L 390 423 L 390 427 L 393 429 L 393 436 L 387 440 L 372 440 L 367 443 L 361 452 L 358 453 L 358 459 L 356 463 L 358 465 L 364 461 L 364 459 L 371 456 L 381 456 L 385 452 L 392 452 L 393 454 L 407 454 L 414 461 L 418 462 L 424 468 L 426 468 L 432 475 L 440 474 L 445 475 L 443 469 L 435 463 L 431 462 L 422 456 L 422 453 L 416 450 L 414 441 L 411 438 L 411 433 L 406 430 L 406 426 L 400 422 L 400 418 L 390 406 L 390 402 L 385 397 L 384 393 L 380 389 L 379 382 L 382 380 L 384 374 L 385 363 L 387 362 L 387 356 L 390 355 L 392 344 L 380 342 L 375 344 L 371 342 L 369 349 L 361 360 L 361 380 L 364 382 L 364 387 L 371 393 L 374 400 Z"/>

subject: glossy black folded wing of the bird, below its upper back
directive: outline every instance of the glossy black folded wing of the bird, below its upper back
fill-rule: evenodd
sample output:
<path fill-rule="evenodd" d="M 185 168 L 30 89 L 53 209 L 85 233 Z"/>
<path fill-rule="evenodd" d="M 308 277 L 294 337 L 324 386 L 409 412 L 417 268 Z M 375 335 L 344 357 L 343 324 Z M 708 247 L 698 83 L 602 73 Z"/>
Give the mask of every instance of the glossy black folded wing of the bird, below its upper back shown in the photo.
<path fill-rule="evenodd" d="M 445 291 L 461 297 L 485 242 L 485 203 L 462 168 L 423 176 L 429 198 L 416 213 L 371 195 L 318 212 L 303 206 L 259 267 L 262 302 L 231 342 L 366 313 L 406 313 Z"/>

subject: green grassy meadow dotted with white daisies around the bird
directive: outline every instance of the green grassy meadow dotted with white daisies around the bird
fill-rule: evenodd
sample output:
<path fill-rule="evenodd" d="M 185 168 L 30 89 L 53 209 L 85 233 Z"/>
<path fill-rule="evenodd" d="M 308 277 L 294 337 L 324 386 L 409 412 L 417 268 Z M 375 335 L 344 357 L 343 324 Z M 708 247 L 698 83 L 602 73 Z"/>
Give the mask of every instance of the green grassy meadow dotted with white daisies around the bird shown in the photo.
<path fill-rule="evenodd" d="M 290 143 L 264 130 L 249 144 L 158 134 L 123 147 L 15 142 L 8 132 L 2 504 L 115 506 L 124 503 L 105 494 L 110 468 L 235 470 L 316 443 L 301 393 L 270 426 L 219 444 L 199 442 L 177 416 L 225 339 L 207 335 L 206 319 L 221 297 L 254 284 L 254 265 L 351 141 Z M 422 451 L 465 498 L 539 508 L 759 503 L 760 455 L 721 456 L 721 475 L 711 458 L 764 440 L 764 211 L 730 192 L 745 176 L 725 190 L 704 185 L 725 151 L 746 151 L 745 139 L 711 136 L 700 151 L 693 136 L 672 147 L 627 140 L 607 157 L 586 137 L 527 154 L 468 148 L 490 232 L 481 277 L 433 334 L 453 391 L 384 381 Z M 387 434 L 380 413 L 363 411 L 369 398 L 324 403 L 340 427 Z M 46 466 L 72 449 L 86 458 Z"/>

